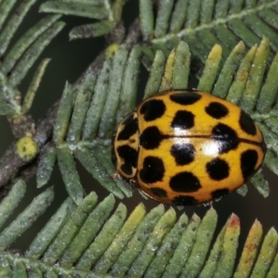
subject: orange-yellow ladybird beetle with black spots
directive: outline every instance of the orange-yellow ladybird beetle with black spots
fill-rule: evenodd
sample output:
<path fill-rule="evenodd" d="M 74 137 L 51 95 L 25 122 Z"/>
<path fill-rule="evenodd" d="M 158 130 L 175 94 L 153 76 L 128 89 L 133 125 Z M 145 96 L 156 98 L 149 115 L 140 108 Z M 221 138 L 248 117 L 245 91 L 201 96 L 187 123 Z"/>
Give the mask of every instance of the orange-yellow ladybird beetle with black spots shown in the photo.
<path fill-rule="evenodd" d="M 226 195 L 259 170 L 265 142 L 250 115 L 206 92 L 177 90 L 142 101 L 113 140 L 117 174 L 165 204 Z"/>

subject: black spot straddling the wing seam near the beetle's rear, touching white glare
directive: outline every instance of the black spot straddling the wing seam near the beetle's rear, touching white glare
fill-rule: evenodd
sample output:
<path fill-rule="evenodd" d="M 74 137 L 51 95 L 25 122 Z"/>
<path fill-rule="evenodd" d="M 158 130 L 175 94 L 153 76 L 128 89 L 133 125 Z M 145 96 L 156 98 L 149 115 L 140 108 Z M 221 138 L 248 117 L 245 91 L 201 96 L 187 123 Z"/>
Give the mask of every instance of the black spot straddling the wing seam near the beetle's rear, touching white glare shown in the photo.
<path fill-rule="evenodd" d="M 236 147 L 238 147 L 239 140 L 236 131 L 227 126 L 227 124 L 217 124 L 213 127 L 212 133 L 213 136 L 217 138 L 218 152 L 220 154 L 229 152 L 231 149 L 236 149 Z"/>

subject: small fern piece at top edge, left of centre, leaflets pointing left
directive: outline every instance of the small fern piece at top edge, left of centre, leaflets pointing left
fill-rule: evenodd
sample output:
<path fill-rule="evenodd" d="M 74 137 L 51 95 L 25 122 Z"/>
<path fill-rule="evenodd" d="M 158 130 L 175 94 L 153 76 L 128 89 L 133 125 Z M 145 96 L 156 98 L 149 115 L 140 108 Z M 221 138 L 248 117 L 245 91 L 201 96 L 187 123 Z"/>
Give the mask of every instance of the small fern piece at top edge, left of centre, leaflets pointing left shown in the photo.
<path fill-rule="evenodd" d="M 70 39 L 99 37 L 110 33 L 120 22 L 124 0 L 93 0 L 93 1 L 47 1 L 42 3 L 40 11 L 64 15 L 77 15 L 99 22 L 74 27 L 70 31 Z"/>

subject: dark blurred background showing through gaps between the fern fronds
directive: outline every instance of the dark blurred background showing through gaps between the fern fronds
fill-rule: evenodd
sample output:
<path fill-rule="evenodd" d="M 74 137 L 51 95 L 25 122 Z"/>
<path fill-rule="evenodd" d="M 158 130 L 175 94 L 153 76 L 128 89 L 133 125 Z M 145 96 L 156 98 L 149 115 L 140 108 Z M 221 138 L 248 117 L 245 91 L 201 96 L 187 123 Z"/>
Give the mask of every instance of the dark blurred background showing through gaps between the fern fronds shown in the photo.
<path fill-rule="evenodd" d="M 44 15 L 38 13 L 38 8 L 42 1 L 37 1 L 31 11 L 24 19 L 24 22 L 20 26 L 19 30 L 16 33 L 16 38 L 20 37 L 29 27 L 31 27 L 35 22 L 38 21 Z M 136 1 L 128 1 L 124 7 L 124 20 L 126 26 L 128 26 L 134 18 L 138 15 L 138 3 Z M 84 40 L 74 40 L 69 41 L 68 33 L 74 26 L 85 24 L 88 22 L 93 22 L 90 19 L 83 19 L 81 17 L 73 16 L 64 16 L 62 17 L 63 21 L 67 23 L 67 26 L 63 29 L 61 33 L 49 44 L 47 49 L 40 56 L 39 60 L 32 67 L 31 71 L 28 73 L 28 76 L 24 79 L 24 82 L 19 86 L 19 90 L 24 93 L 26 92 L 28 85 L 31 82 L 35 68 L 38 66 L 38 63 L 42 58 L 51 58 L 51 62 L 47 67 L 47 71 L 44 74 L 42 83 L 38 90 L 38 94 L 35 97 L 33 103 L 33 108 L 31 109 L 31 114 L 35 119 L 40 119 L 44 117 L 47 113 L 47 110 L 51 107 L 54 102 L 60 99 L 60 96 L 63 92 L 65 82 L 69 81 L 74 83 L 76 79 L 84 72 L 84 70 L 92 63 L 95 57 L 99 52 L 104 49 L 104 38 L 94 38 L 94 39 L 84 39 Z M 12 44 L 13 44 L 12 42 Z M 145 83 L 146 76 L 142 76 L 142 83 L 140 88 L 143 88 Z M 0 129 L 1 129 L 1 139 L 0 139 L 0 155 L 3 155 L 5 149 L 13 142 L 13 136 L 10 131 L 10 126 L 6 117 L 0 117 Z M 108 192 L 104 190 L 97 181 L 92 179 L 90 174 L 84 170 L 80 163 L 76 162 L 77 168 L 80 173 L 81 182 L 87 192 L 95 190 L 99 196 L 99 200 L 104 199 L 108 195 Z M 275 176 L 270 170 L 263 168 L 265 176 L 268 178 L 270 183 L 270 196 L 266 199 L 262 197 L 254 186 L 248 187 L 248 193 L 245 197 L 238 195 L 238 193 L 231 193 L 227 197 L 223 197 L 219 202 L 215 202 L 213 207 L 218 213 L 218 230 L 222 228 L 224 223 L 229 218 L 231 213 L 235 213 L 240 218 L 241 232 L 240 232 L 240 245 L 239 245 L 239 254 L 240 250 L 243 248 L 243 243 L 247 237 L 248 231 L 252 227 L 252 223 L 257 218 L 263 224 L 264 235 L 270 229 L 270 227 L 278 227 L 278 202 L 276 196 L 278 195 L 277 181 L 278 177 Z M 56 211 L 58 206 L 65 200 L 67 194 L 65 192 L 65 186 L 60 177 L 60 172 L 56 166 L 54 172 L 51 175 L 51 181 L 49 181 L 48 186 L 54 186 L 55 190 L 55 199 L 54 203 L 47 209 L 46 213 L 40 217 L 40 219 L 33 224 L 32 229 L 28 230 L 22 235 L 20 240 L 13 245 L 13 248 L 16 250 L 26 250 L 26 247 L 31 243 L 31 240 L 44 224 L 49 220 L 51 215 Z M 36 188 L 35 177 L 28 181 L 27 183 L 27 192 L 24 197 L 24 202 L 19 204 L 17 211 L 13 214 L 13 217 L 16 217 L 23 208 L 28 205 L 31 200 L 44 191 L 44 188 Z M 120 200 L 117 200 L 120 202 Z M 147 211 L 154 206 L 158 205 L 158 202 L 152 199 L 144 199 L 141 195 L 135 190 L 133 197 L 125 198 L 121 202 L 126 204 L 129 208 L 129 212 L 139 202 L 143 202 L 147 206 Z M 169 208 L 170 206 L 165 206 Z M 176 209 L 177 214 L 186 213 L 188 217 L 196 213 L 200 218 L 204 216 L 208 210 L 208 206 L 187 206 L 181 210 Z M 12 220 L 9 220 L 10 223 Z M 7 224 L 8 224 L 7 223 Z M 218 233 L 215 233 L 216 235 Z"/>

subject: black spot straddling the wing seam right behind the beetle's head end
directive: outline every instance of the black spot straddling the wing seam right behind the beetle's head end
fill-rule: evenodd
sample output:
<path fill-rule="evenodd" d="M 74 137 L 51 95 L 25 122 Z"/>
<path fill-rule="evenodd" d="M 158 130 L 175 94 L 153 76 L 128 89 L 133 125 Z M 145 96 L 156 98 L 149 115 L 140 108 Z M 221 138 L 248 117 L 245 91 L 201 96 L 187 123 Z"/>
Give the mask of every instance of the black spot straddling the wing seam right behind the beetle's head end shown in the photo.
<path fill-rule="evenodd" d="M 164 136 L 156 126 L 149 126 L 140 135 L 140 145 L 145 149 L 156 149 Z"/>

